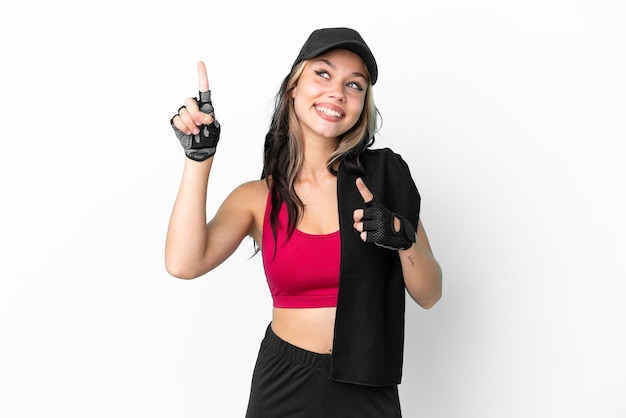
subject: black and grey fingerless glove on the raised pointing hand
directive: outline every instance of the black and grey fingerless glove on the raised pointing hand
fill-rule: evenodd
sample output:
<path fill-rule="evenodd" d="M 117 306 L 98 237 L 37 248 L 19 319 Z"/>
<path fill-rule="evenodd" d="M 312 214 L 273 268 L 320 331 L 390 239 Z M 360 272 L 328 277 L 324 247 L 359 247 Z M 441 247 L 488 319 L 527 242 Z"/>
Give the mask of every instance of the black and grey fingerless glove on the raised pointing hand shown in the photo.
<path fill-rule="evenodd" d="M 201 112 L 207 113 L 213 117 L 213 123 L 210 125 L 200 126 L 199 135 L 185 135 L 176 126 L 174 126 L 174 118 L 170 119 L 170 125 L 176 133 L 176 137 L 185 150 L 185 155 L 195 161 L 204 161 L 215 154 L 217 143 L 220 140 L 221 126 L 215 119 L 215 109 L 211 103 L 211 92 L 200 92 L 200 100 L 198 108 Z"/>

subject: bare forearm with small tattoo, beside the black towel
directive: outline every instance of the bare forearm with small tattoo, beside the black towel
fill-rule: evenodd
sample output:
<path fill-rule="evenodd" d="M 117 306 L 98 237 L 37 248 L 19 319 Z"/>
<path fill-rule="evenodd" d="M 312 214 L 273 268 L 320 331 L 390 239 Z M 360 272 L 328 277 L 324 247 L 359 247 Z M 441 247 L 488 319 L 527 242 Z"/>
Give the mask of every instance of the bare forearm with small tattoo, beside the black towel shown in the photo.
<path fill-rule="evenodd" d="M 411 248 L 400 250 L 405 286 L 420 306 L 429 309 L 441 298 L 442 273 L 439 263 L 420 239 Z"/>

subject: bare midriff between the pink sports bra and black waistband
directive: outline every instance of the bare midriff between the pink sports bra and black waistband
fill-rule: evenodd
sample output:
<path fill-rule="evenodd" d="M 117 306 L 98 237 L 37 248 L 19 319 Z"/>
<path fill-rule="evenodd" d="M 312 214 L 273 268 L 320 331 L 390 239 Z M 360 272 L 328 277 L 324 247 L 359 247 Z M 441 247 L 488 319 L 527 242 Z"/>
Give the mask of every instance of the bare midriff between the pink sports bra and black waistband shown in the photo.
<path fill-rule="evenodd" d="M 337 308 L 274 308 L 272 330 L 289 344 L 319 354 L 333 347 Z"/>

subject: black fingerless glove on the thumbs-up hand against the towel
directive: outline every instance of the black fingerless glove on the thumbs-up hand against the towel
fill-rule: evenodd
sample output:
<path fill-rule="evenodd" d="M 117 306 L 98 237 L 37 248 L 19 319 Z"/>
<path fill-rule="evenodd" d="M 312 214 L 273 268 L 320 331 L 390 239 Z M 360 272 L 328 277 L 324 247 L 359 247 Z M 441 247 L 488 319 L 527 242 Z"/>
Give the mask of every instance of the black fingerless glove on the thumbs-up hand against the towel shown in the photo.
<path fill-rule="evenodd" d="M 394 228 L 394 220 L 400 220 L 400 230 Z M 372 199 L 363 209 L 363 230 L 367 231 L 366 242 L 373 242 L 390 250 L 406 250 L 415 242 L 415 230 L 408 219 Z"/>

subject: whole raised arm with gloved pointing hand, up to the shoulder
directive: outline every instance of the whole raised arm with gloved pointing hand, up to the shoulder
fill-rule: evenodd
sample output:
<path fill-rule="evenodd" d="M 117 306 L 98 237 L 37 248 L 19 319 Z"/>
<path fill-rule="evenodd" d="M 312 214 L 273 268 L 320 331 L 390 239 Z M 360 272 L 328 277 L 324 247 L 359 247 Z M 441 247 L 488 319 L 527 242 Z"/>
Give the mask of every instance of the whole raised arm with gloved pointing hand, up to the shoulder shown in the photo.
<path fill-rule="evenodd" d="M 186 99 L 171 121 L 188 158 L 167 231 L 165 267 L 181 279 L 199 277 L 218 266 L 251 234 L 254 225 L 249 196 L 255 190 L 253 184 L 233 191 L 207 223 L 208 179 L 219 139 L 219 129 L 215 128 L 219 125 L 202 62 L 198 63 L 198 81 L 200 99 Z"/>

